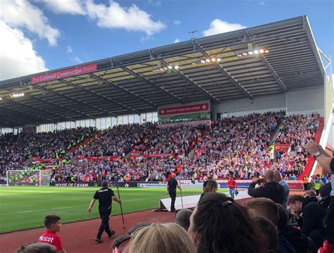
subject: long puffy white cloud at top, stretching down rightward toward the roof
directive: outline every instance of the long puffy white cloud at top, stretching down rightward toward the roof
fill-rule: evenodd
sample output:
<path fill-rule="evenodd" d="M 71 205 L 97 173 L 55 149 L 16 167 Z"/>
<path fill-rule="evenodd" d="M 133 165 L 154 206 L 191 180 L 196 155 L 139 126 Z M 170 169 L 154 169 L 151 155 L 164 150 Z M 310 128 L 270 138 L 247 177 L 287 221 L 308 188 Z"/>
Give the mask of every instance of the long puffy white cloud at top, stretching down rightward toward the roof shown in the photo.
<path fill-rule="evenodd" d="M 149 13 L 140 10 L 135 4 L 129 8 L 123 8 L 115 1 L 110 1 L 110 5 L 106 6 L 104 4 L 94 4 L 92 0 L 87 0 L 86 11 L 89 18 L 97 20 L 99 27 L 142 31 L 148 36 L 166 28 L 165 24 L 152 20 Z"/>

